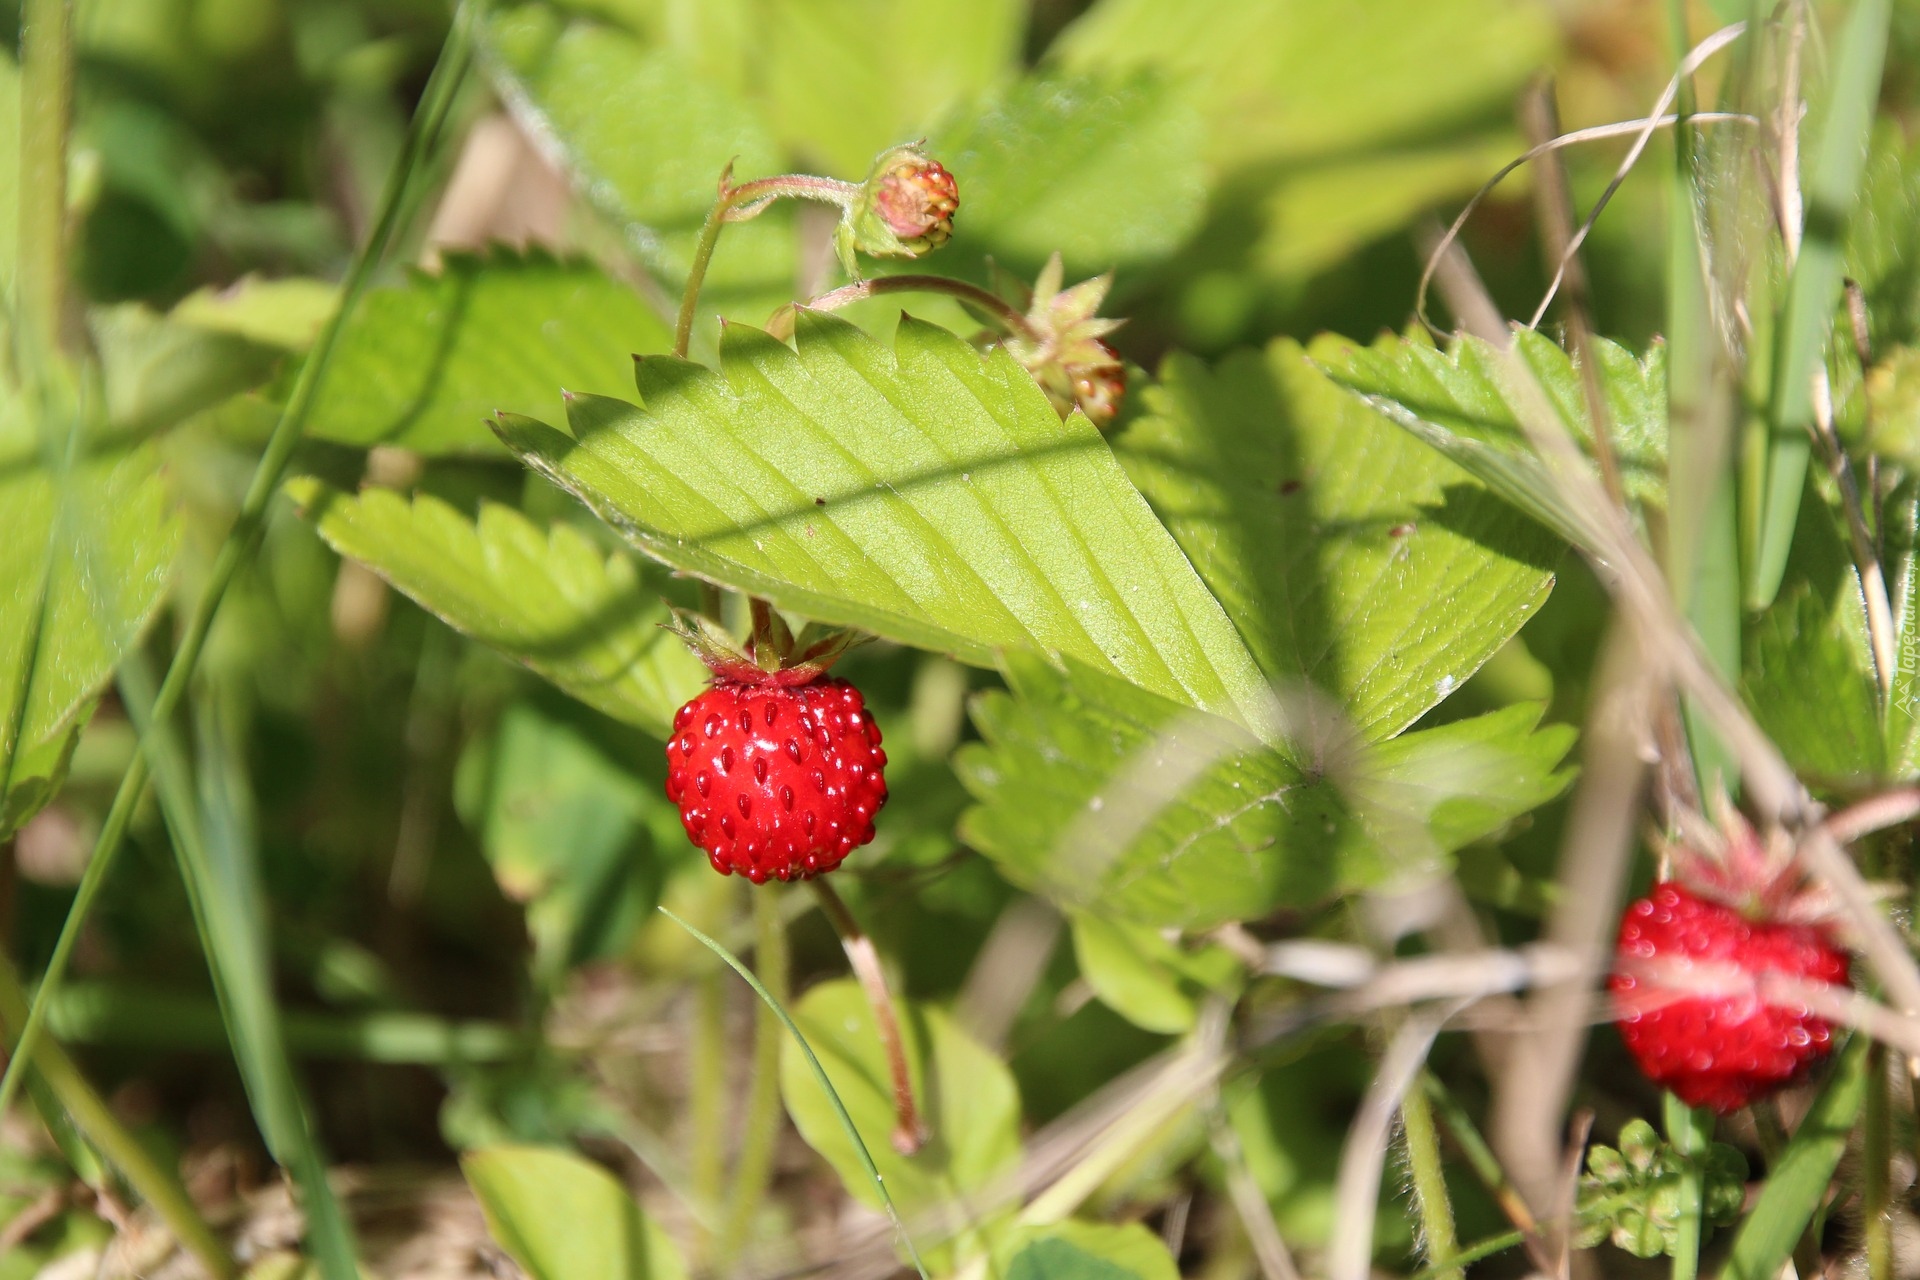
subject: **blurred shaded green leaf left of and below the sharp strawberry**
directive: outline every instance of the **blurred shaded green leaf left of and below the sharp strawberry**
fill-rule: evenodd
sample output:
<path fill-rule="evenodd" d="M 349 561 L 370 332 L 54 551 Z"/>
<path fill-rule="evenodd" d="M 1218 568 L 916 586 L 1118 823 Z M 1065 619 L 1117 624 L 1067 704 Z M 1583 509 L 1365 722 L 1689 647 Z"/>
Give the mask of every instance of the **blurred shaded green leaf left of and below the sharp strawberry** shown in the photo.
<path fill-rule="evenodd" d="M 484 752 L 474 766 L 486 781 L 465 816 L 501 890 L 526 904 L 536 975 L 551 984 L 618 956 L 660 896 L 653 787 L 538 702 L 509 706 L 493 739 L 468 750 Z"/>

